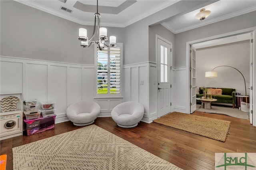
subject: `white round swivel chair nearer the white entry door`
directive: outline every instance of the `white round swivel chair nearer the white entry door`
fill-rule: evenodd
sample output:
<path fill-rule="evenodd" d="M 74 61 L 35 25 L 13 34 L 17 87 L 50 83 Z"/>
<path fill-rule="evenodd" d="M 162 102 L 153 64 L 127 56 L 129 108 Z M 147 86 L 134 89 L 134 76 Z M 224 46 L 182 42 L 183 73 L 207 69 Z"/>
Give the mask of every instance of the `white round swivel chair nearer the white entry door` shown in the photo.
<path fill-rule="evenodd" d="M 119 127 L 136 127 L 144 115 L 144 107 L 135 101 L 120 103 L 111 112 L 112 119 Z"/>

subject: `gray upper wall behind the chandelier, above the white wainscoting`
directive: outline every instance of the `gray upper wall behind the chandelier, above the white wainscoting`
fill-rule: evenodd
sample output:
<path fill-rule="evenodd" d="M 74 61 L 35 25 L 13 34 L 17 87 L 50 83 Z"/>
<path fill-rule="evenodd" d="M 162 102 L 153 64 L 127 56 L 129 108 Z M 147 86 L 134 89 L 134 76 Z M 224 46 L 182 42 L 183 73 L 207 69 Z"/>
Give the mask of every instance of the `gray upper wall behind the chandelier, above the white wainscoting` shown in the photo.
<path fill-rule="evenodd" d="M 15 1 L 0 1 L 1 53 L 8 57 L 21 57 L 64 63 L 94 64 L 94 48 L 80 47 L 78 29 L 81 26 Z M 110 28 L 121 42 L 124 28 Z"/>

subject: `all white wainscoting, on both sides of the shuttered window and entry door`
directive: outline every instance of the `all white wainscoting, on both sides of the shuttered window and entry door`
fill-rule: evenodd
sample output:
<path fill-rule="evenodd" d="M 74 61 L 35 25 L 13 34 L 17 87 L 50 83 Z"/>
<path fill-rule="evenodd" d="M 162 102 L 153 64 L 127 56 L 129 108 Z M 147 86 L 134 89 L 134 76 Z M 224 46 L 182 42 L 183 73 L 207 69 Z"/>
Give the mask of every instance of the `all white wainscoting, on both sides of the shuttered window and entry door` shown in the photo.
<path fill-rule="evenodd" d="M 100 117 L 110 116 L 112 109 L 125 101 L 142 103 L 145 109 L 142 121 L 150 123 L 156 118 L 157 79 L 156 63 L 137 63 L 124 65 L 122 97 L 99 98 L 96 95 L 96 76 L 94 65 L 58 63 L 16 57 L 0 57 L 1 91 L 12 93 L 22 91 L 24 100 L 52 100 L 56 102 L 56 123 L 68 121 L 66 108 L 76 101 L 96 101 L 101 107 Z M 174 77 L 184 77 L 186 69 L 174 69 Z M 186 110 L 184 96 L 185 83 L 178 83 L 172 94 L 176 111 Z M 185 81 L 185 80 L 184 80 Z M 23 83 L 22 83 L 23 82 Z M 175 95 L 173 97 L 173 95 Z M 176 103 L 179 103 L 177 105 Z M 181 104 L 180 104 L 181 103 Z M 184 105 L 183 105 L 184 103 Z"/>

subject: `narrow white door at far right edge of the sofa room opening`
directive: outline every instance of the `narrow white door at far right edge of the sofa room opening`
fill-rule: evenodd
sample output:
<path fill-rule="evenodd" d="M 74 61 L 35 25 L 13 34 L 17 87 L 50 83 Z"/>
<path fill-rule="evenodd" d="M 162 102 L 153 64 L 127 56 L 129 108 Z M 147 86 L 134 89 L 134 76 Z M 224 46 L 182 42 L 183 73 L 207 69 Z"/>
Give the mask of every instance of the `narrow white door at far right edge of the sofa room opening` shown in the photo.
<path fill-rule="evenodd" d="M 253 33 L 251 33 L 251 43 L 250 43 L 250 124 L 253 124 L 253 114 L 252 114 L 252 103 L 253 103 L 253 81 L 254 81 L 254 63 L 253 63 L 253 53 L 254 53 L 254 40 Z"/>

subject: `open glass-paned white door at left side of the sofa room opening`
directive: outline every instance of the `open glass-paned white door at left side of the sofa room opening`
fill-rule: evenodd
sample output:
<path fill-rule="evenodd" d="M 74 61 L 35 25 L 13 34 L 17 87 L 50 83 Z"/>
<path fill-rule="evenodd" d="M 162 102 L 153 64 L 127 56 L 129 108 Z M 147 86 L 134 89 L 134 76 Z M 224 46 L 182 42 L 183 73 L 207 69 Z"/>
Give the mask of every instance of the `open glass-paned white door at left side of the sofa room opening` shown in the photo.
<path fill-rule="evenodd" d="M 190 113 L 196 110 L 196 49 L 190 45 Z"/>

